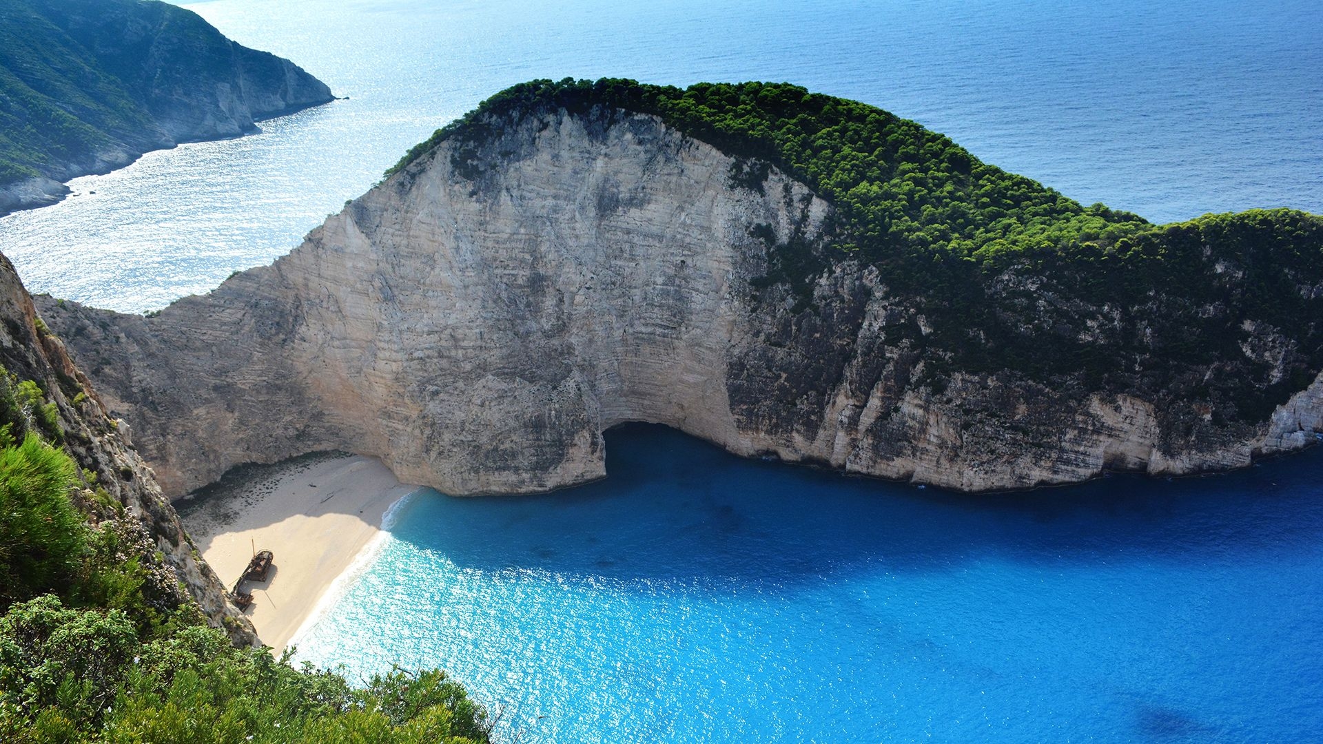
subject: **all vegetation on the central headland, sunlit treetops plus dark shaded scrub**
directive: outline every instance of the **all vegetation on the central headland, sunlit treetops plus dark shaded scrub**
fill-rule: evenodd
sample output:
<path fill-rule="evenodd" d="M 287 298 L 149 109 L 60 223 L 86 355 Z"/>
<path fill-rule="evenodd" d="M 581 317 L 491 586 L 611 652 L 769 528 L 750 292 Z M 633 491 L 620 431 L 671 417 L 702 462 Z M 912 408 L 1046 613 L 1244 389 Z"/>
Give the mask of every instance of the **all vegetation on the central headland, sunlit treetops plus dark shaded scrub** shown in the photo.
<path fill-rule="evenodd" d="M 730 185 L 762 189 L 779 168 L 835 207 L 826 236 L 774 236 L 763 289 L 812 312 L 818 279 L 841 262 L 876 266 L 930 330 L 930 376 L 1012 372 L 1052 384 L 1160 389 L 1218 400 L 1244 421 L 1323 369 L 1323 218 L 1253 209 L 1154 225 L 1091 207 L 983 163 L 950 138 L 888 111 L 790 83 L 533 81 L 437 130 L 390 171 L 451 142 L 456 172 L 500 165 L 488 146 L 556 111 L 611 126 L 630 113 L 736 159 Z M 1256 328 L 1289 339 L 1274 369 L 1246 359 Z"/>

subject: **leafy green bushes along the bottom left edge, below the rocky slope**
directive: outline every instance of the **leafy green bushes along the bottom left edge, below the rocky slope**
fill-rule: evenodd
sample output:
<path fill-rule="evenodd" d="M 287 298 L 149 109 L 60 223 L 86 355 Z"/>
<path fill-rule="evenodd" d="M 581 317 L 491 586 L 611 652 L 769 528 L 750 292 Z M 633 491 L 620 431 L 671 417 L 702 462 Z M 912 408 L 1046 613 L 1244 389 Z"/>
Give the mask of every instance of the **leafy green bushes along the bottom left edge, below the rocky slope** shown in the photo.
<path fill-rule="evenodd" d="M 0 618 L 7 741 L 486 741 L 486 712 L 443 673 L 394 671 L 355 690 L 263 649 L 185 625 L 139 635 L 119 610 L 45 596 Z"/>

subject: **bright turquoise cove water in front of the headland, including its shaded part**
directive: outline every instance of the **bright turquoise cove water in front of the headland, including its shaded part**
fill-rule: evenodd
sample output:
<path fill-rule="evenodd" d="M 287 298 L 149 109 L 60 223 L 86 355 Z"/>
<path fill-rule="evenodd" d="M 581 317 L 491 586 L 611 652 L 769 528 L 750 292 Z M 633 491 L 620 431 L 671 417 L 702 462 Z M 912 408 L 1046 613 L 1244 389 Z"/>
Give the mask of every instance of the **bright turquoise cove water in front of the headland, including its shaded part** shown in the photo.
<path fill-rule="evenodd" d="M 609 478 L 414 496 L 302 638 L 520 741 L 1303 741 L 1323 449 L 966 496 L 609 433 Z"/>

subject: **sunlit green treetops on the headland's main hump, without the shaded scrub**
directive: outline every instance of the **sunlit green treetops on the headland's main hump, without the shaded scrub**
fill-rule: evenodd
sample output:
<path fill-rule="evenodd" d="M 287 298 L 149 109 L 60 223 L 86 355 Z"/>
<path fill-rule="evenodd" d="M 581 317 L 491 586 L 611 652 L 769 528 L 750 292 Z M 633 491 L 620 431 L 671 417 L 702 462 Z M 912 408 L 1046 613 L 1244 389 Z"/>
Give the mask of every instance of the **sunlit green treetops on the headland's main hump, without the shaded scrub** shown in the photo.
<path fill-rule="evenodd" d="M 688 89 L 630 79 L 516 85 L 438 130 L 386 172 L 443 140 L 479 144 L 493 122 L 557 109 L 610 119 L 615 110 L 656 114 L 685 134 L 750 164 L 771 163 L 836 205 L 848 236 L 836 248 L 881 258 L 904 250 L 992 259 L 1088 236 L 1111 242 L 1146 225 L 1106 208 L 1085 209 L 1037 181 L 970 155 L 950 138 L 881 109 L 789 83 L 697 83 Z M 754 185 L 758 191 L 761 188 Z"/>

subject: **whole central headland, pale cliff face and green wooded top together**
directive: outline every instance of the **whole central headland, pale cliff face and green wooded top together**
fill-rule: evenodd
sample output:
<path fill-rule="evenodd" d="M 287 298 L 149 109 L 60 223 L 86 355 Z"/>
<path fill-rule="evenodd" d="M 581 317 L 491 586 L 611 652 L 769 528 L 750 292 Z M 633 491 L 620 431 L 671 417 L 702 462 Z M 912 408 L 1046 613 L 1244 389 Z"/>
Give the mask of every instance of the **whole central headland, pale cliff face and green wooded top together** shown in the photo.
<path fill-rule="evenodd" d="M 206 297 L 38 303 L 173 495 L 324 449 L 541 491 L 624 421 L 968 491 L 1323 430 L 1319 217 L 1150 225 L 794 86 L 519 86 Z"/>

